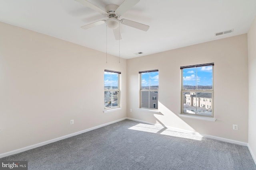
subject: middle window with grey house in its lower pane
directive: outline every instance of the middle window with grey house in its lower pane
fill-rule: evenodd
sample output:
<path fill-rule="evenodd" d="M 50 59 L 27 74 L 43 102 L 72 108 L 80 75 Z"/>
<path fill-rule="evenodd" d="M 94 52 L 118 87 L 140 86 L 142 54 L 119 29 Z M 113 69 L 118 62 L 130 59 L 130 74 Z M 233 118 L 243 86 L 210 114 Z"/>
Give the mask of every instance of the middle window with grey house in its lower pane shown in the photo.
<path fill-rule="evenodd" d="M 141 71 L 140 108 L 158 109 L 158 70 Z"/>

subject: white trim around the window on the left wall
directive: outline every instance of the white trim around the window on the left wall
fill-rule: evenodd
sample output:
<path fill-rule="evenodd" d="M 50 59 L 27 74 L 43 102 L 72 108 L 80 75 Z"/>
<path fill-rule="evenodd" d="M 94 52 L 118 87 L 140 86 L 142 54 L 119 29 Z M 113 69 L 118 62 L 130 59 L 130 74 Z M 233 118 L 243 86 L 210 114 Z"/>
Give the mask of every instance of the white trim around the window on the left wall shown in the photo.
<path fill-rule="evenodd" d="M 104 113 L 107 113 L 107 112 L 110 112 L 110 111 L 115 111 L 115 110 L 119 110 L 121 108 L 121 94 L 120 94 L 120 85 L 121 85 L 121 72 L 118 72 L 118 71 L 112 71 L 112 70 L 104 70 L 104 72 L 112 72 L 112 73 L 117 73 L 118 74 L 118 89 L 105 89 L 104 88 L 104 95 L 105 95 L 105 92 L 112 92 L 112 91 L 115 91 L 118 93 L 118 106 L 117 107 L 111 107 L 111 108 L 106 108 L 105 109 L 105 106 L 104 106 Z M 105 100 L 105 97 L 104 97 L 104 100 Z M 105 103 L 105 102 L 104 102 Z"/>

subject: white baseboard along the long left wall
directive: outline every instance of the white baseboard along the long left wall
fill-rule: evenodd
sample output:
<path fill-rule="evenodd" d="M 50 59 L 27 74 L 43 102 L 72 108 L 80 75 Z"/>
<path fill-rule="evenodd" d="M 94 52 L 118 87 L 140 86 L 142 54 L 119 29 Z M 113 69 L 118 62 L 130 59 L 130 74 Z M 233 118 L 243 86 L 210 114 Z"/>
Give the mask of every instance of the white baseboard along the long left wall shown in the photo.
<path fill-rule="evenodd" d="M 79 135 L 81 133 L 85 133 L 85 132 L 88 132 L 88 131 L 92 131 L 94 129 L 98 129 L 100 127 L 104 127 L 106 125 L 110 125 L 112 123 L 116 123 L 118 121 L 122 121 L 122 120 L 125 120 L 125 118 L 122 118 L 122 119 L 119 119 L 119 120 L 116 120 L 116 121 L 112 121 L 112 122 L 108 122 L 108 123 L 105 123 L 105 124 L 102 124 L 102 125 L 98 125 L 98 126 L 95 126 L 95 127 L 91 127 L 89 129 L 85 129 L 85 130 L 82 130 L 82 131 L 79 131 L 79 132 L 75 132 L 75 133 L 71 133 L 69 135 L 65 135 L 65 136 L 62 136 L 62 137 L 58 137 L 58 138 L 55 138 L 55 139 L 51 139 L 49 141 L 45 141 L 45 142 L 41 142 L 41 143 L 38 143 L 38 144 L 34 144 L 34 145 L 30 145 L 28 147 L 24 147 L 24 148 L 20 148 L 20 149 L 16 149 L 16 150 L 12 150 L 10 152 L 5 152 L 5 153 L 2 153 L 0 154 L 0 158 L 3 158 L 3 157 L 6 157 L 6 156 L 10 156 L 12 154 L 17 154 L 17 153 L 20 153 L 20 152 L 24 152 L 26 150 L 30 150 L 30 149 L 34 149 L 34 148 L 37 148 L 37 147 L 41 147 L 43 145 L 47 145 L 49 143 L 53 143 L 53 142 L 56 142 L 56 141 L 60 141 L 62 139 L 66 139 L 66 138 L 69 138 L 69 137 L 72 137 L 72 136 L 76 136 L 76 135 Z"/>

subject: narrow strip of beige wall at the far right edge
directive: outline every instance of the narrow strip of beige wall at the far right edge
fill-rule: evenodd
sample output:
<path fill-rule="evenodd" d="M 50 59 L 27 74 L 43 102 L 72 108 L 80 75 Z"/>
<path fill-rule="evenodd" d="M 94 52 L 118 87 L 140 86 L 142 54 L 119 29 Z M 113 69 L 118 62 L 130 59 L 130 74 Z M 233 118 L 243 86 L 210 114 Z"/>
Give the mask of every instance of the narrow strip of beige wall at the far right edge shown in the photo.
<path fill-rule="evenodd" d="M 249 136 L 248 145 L 256 161 L 256 18 L 248 32 L 248 66 L 249 66 Z"/>

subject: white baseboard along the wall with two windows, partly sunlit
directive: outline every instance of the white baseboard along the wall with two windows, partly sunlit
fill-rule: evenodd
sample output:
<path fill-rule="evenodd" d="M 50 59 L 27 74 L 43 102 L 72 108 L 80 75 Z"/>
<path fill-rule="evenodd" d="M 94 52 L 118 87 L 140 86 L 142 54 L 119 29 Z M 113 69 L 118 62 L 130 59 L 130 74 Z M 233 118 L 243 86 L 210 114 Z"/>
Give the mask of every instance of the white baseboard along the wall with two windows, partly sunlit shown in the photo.
<path fill-rule="evenodd" d="M 210 138 L 210 139 L 216 139 L 218 141 L 224 141 L 224 142 L 228 142 L 228 143 L 235 143 L 235 144 L 242 145 L 242 146 L 248 146 L 248 143 L 235 141 L 235 140 L 232 140 L 232 139 L 226 139 L 226 138 L 216 137 L 216 136 L 212 136 L 212 135 L 200 134 L 198 132 L 187 131 L 187 130 L 178 129 L 178 128 L 175 128 L 175 127 L 163 126 L 163 125 L 160 125 L 160 124 L 154 124 L 154 123 L 150 123 L 150 122 L 146 122 L 146 121 L 142 121 L 142 120 L 138 120 L 138 119 L 133 119 L 133 118 L 130 118 L 130 117 L 127 117 L 127 119 L 133 120 L 133 121 L 138 121 L 138 122 L 141 122 L 141 123 L 147 123 L 147 124 L 150 124 L 150 125 L 166 127 L 168 129 L 171 129 L 171 130 L 177 131 L 177 132 L 189 133 L 189 134 L 194 134 L 194 135 L 201 135 L 202 137 L 206 137 L 206 138 Z"/>

